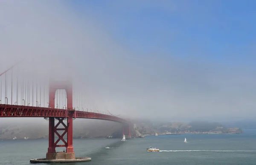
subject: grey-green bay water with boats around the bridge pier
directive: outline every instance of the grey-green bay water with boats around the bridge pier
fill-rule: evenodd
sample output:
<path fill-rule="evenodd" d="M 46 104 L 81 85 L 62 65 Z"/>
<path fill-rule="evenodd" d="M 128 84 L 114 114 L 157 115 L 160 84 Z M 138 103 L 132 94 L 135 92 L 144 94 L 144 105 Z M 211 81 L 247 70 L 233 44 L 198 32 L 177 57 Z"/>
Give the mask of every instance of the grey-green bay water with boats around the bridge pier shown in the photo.
<path fill-rule="evenodd" d="M 92 161 L 68 165 L 256 165 L 256 130 L 244 131 L 146 136 L 126 142 L 121 138 L 74 139 L 76 156 L 90 156 Z M 183 142 L 185 136 L 188 143 Z M 147 152 L 149 146 L 160 152 Z M 44 158 L 47 148 L 48 139 L 0 141 L 0 165 L 29 165 L 29 159 Z"/>

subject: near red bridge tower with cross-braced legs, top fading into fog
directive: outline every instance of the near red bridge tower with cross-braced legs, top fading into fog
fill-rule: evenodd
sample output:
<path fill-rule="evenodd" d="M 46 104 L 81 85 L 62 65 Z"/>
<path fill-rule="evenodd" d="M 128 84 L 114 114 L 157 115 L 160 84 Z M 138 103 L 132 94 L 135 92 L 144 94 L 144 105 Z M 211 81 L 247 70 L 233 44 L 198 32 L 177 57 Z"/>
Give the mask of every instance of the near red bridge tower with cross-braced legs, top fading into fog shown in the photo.
<path fill-rule="evenodd" d="M 49 147 L 46 155 L 46 159 L 56 159 L 56 147 L 66 147 L 66 153 L 62 154 L 61 159 L 75 159 L 75 152 L 73 149 L 73 116 L 75 110 L 73 110 L 73 90 L 72 82 L 56 82 L 49 81 L 49 107 L 55 107 L 55 93 L 56 90 L 63 89 L 67 93 L 67 110 L 65 112 L 65 118 L 67 118 L 67 125 L 64 124 L 64 118 L 49 117 Z M 55 125 L 55 119 L 58 123 Z M 64 128 L 58 128 L 62 124 Z M 64 133 L 60 135 L 58 130 L 64 130 Z M 67 133 L 67 142 L 63 139 L 63 136 Z M 55 142 L 55 134 L 58 136 Z M 58 142 L 64 142 L 64 145 L 58 145 Z M 59 156 L 57 156 L 59 157 Z"/>

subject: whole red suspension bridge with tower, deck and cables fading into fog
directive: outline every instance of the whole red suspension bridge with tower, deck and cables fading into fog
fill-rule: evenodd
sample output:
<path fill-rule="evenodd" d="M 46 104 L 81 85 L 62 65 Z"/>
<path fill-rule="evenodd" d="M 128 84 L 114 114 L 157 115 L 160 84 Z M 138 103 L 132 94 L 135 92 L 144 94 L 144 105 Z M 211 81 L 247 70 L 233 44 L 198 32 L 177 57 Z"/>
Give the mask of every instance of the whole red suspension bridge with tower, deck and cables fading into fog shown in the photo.
<path fill-rule="evenodd" d="M 58 80 L 48 75 L 35 74 L 35 70 L 26 67 L 22 61 L 0 73 L 0 118 L 41 117 L 49 120 L 46 160 L 76 159 L 73 148 L 73 119 L 76 118 L 119 122 L 123 125 L 123 134 L 131 138 L 130 122 L 109 111 L 99 110 L 93 98 L 73 87 L 71 78 Z M 58 136 L 56 140 L 55 135 Z M 66 152 L 56 153 L 58 147 L 65 147 Z"/>

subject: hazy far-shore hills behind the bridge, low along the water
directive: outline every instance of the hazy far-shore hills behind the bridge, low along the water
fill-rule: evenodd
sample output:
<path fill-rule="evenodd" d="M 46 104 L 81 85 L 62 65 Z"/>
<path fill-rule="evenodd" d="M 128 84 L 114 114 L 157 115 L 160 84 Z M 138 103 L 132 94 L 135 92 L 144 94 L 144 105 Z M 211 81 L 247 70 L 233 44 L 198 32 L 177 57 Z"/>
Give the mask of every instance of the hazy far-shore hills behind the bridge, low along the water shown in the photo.
<path fill-rule="evenodd" d="M 57 121 L 56 121 L 57 122 Z M 218 122 L 151 122 L 150 120 L 131 120 L 131 136 L 138 137 L 141 135 L 154 133 L 242 133 L 242 130 L 235 127 L 229 128 Z M 122 124 L 92 120 L 76 119 L 73 121 L 74 138 L 106 138 L 110 135 L 113 138 L 122 137 Z M 38 119 L 37 121 L 15 121 L 3 122 L 0 120 L 0 139 L 40 139 L 48 138 L 48 121 Z"/>

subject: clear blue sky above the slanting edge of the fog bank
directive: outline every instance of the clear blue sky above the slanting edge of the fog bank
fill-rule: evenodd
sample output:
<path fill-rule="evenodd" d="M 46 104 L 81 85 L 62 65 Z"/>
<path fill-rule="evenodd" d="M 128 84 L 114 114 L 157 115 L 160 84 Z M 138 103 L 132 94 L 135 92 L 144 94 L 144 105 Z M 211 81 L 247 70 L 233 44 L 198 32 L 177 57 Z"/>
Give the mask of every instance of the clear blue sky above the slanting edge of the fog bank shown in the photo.
<path fill-rule="evenodd" d="M 256 1 L 253 0 L 74 0 L 78 14 L 89 15 L 130 49 L 160 49 L 179 57 L 227 64 L 255 60 Z"/>

